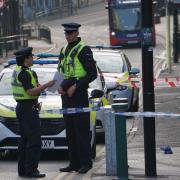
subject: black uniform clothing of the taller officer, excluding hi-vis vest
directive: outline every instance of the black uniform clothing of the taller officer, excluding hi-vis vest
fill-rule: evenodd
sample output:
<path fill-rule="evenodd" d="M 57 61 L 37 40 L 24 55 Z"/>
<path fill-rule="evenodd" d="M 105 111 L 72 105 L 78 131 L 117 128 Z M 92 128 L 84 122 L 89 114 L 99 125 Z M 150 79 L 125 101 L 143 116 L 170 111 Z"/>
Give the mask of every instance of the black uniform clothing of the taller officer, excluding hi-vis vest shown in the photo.
<path fill-rule="evenodd" d="M 68 28 L 65 28 L 65 31 L 67 31 L 67 29 L 72 30 L 73 28 L 74 26 L 68 26 Z M 77 30 L 76 27 L 75 29 Z M 65 55 L 68 55 L 71 49 L 80 41 L 81 38 L 78 38 L 78 41 L 69 43 Z M 74 82 L 76 83 L 76 91 L 72 97 L 68 97 L 66 94 L 61 96 L 63 108 L 82 108 L 89 106 L 87 92 L 89 87 L 88 84 L 97 78 L 97 70 L 91 49 L 88 46 L 85 46 L 78 54 L 78 59 L 87 72 L 87 75 L 79 80 L 73 78 L 65 80 L 61 84 L 61 87 L 66 90 Z M 64 119 L 66 123 L 66 136 L 69 150 L 69 166 L 72 170 L 78 170 L 83 166 L 92 167 L 90 113 L 66 114 L 64 115 Z"/>

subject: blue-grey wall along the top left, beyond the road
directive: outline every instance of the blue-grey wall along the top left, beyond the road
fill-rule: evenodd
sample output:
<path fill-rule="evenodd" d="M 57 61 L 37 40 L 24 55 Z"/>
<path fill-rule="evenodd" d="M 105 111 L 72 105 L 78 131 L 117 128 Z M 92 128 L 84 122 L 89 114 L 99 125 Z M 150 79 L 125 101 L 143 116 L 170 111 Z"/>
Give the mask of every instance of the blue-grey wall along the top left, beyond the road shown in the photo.
<path fill-rule="evenodd" d="M 21 0 L 24 21 L 51 14 L 73 15 L 78 8 L 94 5 L 104 0 Z M 35 17 L 36 16 L 36 17 Z"/>

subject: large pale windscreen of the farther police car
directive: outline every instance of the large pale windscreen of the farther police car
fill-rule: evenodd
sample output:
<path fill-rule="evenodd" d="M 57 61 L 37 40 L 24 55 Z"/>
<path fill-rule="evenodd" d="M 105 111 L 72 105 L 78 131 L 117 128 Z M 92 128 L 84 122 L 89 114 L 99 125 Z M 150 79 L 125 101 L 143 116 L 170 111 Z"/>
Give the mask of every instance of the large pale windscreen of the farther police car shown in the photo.
<path fill-rule="evenodd" d="M 122 73 L 123 60 L 121 56 L 113 56 L 112 54 L 93 54 L 97 66 L 103 73 Z"/>

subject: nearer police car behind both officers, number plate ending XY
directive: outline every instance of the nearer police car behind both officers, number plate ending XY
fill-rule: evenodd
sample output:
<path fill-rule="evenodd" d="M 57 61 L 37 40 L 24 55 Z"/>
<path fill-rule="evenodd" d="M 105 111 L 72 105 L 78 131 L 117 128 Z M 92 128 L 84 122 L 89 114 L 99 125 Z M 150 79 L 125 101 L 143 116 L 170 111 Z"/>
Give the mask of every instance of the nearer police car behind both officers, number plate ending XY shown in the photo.
<path fill-rule="evenodd" d="M 53 79 L 57 71 L 57 60 L 34 60 L 33 69 L 39 83 L 43 84 Z M 12 95 L 11 76 L 15 68 L 15 60 L 9 61 L 0 73 L 0 150 L 16 150 L 19 141 L 19 122 L 16 118 L 16 101 Z M 98 87 L 100 79 L 96 79 L 89 88 L 90 107 L 101 104 L 103 91 Z M 95 99 L 94 99 L 95 98 Z M 40 111 L 42 149 L 67 149 L 65 123 L 63 114 L 59 113 L 62 107 L 61 96 L 55 92 L 44 91 L 39 97 L 42 102 Z M 93 157 L 96 155 L 96 112 L 91 112 L 91 145 Z"/>

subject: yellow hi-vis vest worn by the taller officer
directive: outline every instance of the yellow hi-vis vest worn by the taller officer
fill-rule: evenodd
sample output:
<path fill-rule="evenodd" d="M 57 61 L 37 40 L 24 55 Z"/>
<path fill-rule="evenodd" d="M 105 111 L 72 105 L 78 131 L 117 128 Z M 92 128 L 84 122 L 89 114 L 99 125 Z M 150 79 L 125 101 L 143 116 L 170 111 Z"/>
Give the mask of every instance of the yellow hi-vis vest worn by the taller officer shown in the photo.
<path fill-rule="evenodd" d="M 64 74 L 65 79 L 76 78 L 77 80 L 84 77 L 87 73 L 83 68 L 83 65 L 78 59 L 78 54 L 81 52 L 85 46 L 83 41 L 80 41 L 75 47 L 71 49 L 69 54 L 65 56 L 66 47 L 61 51 L 63 58 L 59 62 L 58 71 Z"/>

